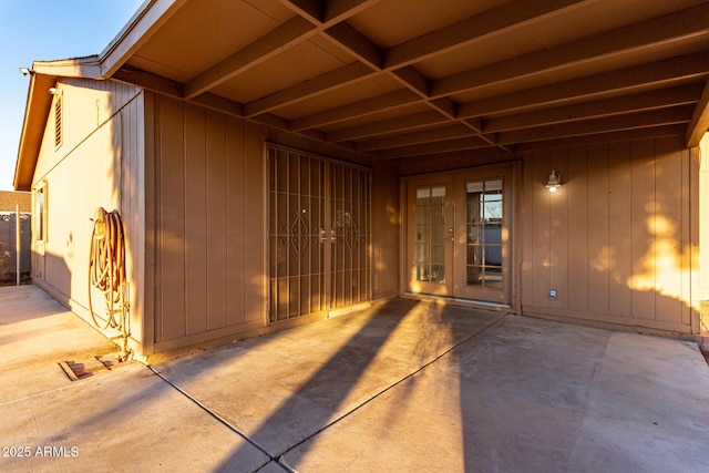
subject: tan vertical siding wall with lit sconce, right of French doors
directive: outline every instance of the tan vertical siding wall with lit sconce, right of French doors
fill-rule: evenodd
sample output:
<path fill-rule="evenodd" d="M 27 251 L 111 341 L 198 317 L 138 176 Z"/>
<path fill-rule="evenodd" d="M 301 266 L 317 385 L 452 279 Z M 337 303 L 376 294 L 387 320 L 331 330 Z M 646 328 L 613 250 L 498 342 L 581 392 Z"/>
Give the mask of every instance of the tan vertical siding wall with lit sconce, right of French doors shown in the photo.
<path fill-rule="evenodd" d="M 698 331 L 699 164 L 680 137 L 523 158 L 524 313 Z"/>

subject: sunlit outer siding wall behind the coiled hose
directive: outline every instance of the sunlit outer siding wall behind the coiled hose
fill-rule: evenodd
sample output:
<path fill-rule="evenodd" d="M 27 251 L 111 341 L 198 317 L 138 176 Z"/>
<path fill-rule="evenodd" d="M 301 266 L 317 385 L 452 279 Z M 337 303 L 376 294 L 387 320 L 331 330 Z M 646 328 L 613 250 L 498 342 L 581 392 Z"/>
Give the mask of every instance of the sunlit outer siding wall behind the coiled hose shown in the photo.
<path fill-rule="evenodd" d="M 33 241 L 33 282 L 91 323 L 90 218 L 97 207 L 117 209 L 124 224 L 133 302 L 130 343 L 140 351 L 144 310 L 143 94 L 114 81 L 61 80 L 56 89 L 62 100 L 62 143 L 55 146 L 52 104 L 32 179 L 33 188 L 45 184 L 48 210 L 43 255 Z M 103 301 L 94 300 L 94 309 L 102 313 Z M 104 335 L 117 332 L 107 329 Z"/>

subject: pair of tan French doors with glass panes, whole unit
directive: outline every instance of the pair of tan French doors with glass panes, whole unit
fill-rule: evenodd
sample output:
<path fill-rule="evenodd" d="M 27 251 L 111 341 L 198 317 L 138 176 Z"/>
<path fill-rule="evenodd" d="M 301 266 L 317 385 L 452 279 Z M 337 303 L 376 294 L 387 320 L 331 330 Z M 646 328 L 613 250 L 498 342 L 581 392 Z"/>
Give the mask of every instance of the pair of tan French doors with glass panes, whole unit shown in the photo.
<path fill-rule="evenodd" d="M 407 182 L 409 292 L 510 304 L 512 168 Z"/>

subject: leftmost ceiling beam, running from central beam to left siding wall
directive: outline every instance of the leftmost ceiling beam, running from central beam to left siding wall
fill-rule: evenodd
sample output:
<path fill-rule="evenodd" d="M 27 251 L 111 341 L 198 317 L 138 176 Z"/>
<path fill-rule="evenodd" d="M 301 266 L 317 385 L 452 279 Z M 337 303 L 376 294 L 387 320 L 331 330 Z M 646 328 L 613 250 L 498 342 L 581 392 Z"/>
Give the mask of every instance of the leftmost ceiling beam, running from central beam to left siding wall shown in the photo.
<path fill-rule="evenodd" d="M 194 99 L 316 33 L 309 21 L 295 17 L 186 82 L 185 99 Z"/>

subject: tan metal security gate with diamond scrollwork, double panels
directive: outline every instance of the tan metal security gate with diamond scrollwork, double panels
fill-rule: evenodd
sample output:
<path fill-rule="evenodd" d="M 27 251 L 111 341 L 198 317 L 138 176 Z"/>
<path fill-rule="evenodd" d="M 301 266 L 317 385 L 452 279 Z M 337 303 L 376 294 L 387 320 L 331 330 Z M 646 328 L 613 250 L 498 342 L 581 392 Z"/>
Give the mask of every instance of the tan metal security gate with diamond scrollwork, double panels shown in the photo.
<path fill-rule="evenodd" d="M 370 172 L 268 146 L 269 320 L 370 300 Z"/>

